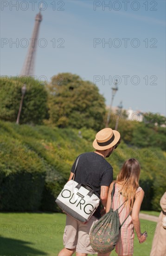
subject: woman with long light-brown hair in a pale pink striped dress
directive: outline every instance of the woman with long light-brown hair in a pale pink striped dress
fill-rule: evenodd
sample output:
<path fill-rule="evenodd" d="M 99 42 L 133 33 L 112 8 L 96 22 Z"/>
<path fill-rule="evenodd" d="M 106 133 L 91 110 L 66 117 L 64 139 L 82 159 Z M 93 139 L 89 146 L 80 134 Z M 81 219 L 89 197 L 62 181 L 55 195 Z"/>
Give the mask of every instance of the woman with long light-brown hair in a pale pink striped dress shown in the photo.
<path fill-rule="evenodd" d="M 122 202 L 127 200 L 118 210 L 120 222 L 127 220 L 121 227 L 119 240 L 115 246 L 118 256 L 132 256 L 134 251 L 134 229 L 140 243 L 145 242 L 146 237 L 140 232 L 139 212 L 144 197 L 144 191 L 139 187 L 140 164 L 134 159 L 124 162 L 119 175 L 115 181 L 115 194 L 112 208 L 116 210 Z M 111 207 L 111 192 L 114 182 L 109 187 L 109 196 L 106 212 Z M 109 254 L 105 254 L 107 256 Z"/>

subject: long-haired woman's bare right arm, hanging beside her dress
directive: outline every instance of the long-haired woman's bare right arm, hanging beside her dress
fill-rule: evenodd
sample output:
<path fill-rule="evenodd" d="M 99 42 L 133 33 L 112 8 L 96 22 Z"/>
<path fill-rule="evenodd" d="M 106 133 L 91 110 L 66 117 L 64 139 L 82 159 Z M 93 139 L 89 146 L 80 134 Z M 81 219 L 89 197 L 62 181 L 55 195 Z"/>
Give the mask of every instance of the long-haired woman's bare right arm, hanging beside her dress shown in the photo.
<path fill-rule="evenodd" d="M 142 235 L 140 232 L 140 218 L 139 218 L 139 213 L 140 213 L 140 206 L 144 198 L 144 191 L 141 189 L 138 193 L 137 196 L 135 196 L 135 202 L 133 205 L 133 210 L 132 210 L 132 222 L 134 225 L 135 232 L 137 234 L 138 240 L 140 243 L 145 242 L 146 237 Z"/>

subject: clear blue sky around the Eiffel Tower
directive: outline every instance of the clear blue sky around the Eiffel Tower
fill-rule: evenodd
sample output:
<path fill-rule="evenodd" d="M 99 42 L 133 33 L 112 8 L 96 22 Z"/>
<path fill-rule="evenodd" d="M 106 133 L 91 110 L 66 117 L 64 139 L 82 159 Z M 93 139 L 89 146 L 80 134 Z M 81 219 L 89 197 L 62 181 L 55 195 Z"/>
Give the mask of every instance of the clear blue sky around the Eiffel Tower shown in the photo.
<path fill-rule="evenodd" d="M 107 105 L 117 78 L 113 106 L 122 101 L 125 109 L 166 115 L 165 0 L 1 0 L 1 75 L 20 74 L 28 50 L 20 42 L 30 42 L 41 2 L 37 77 L 78 74 Z"/>

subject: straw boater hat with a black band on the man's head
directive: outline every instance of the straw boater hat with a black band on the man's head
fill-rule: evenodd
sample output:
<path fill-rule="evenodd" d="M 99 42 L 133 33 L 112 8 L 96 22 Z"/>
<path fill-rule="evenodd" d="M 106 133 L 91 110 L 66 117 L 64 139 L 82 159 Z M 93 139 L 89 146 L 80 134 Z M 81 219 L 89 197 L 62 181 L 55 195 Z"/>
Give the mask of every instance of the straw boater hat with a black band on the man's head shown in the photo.
<path fill-rule="evenodd" d="M 93 141 L 93 147 L 98 150 L 112 148 L 119 141 L 121 135 L 118 131 L 111 128 L 104 128 L 96 134 L 96 139 Z"/>

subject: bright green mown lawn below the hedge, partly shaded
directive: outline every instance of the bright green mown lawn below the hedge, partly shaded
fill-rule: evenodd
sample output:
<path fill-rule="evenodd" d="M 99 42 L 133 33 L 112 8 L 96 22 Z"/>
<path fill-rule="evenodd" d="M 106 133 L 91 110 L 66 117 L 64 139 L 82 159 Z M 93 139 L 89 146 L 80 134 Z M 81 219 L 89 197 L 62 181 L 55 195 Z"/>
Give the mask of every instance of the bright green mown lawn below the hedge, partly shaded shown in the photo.
<path fill-rule="evenodd" d="M 57 256 L 63 248 L 64 225 L 65 215 L 60 213 L 0 213 L 0 256 Z M 139 244 L 135 236 L 134 256 L 149 256 L 155 225 L 141 220 L 148 238 Z"/>

